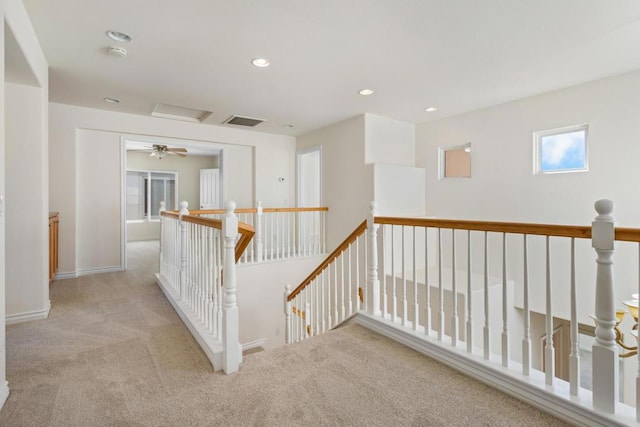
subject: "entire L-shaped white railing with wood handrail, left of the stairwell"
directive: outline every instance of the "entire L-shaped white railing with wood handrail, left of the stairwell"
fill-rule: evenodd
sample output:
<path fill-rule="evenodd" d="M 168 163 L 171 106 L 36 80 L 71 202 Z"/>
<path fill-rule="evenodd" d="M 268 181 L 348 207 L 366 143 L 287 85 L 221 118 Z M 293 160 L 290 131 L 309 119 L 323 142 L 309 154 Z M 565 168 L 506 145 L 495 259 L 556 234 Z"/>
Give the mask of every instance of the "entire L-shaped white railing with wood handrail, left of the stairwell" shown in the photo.
<path fill-rule="evenodd" d="M 236 264 L 322 253 L 328 209 L 235 209 L 233 202 L 225 210 L 187 208 L 181 202 L 180 211 L 167 212 L 161 203 L 157 281 L 214 370 L 233 373 L 242 362 Z"/>

